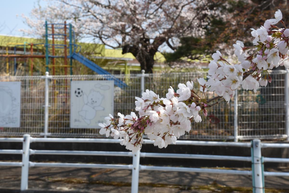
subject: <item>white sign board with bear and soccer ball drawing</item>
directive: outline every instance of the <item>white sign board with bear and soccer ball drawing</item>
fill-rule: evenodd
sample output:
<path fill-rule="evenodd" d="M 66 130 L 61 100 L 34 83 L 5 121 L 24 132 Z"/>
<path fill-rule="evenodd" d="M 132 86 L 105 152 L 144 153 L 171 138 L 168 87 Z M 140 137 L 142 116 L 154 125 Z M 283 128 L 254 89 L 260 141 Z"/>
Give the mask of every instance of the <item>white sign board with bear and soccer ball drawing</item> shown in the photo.
<path fill-rule="evenodd" d="M 70 104 L 71 128 L 100 128 L 114 112 L 114 81 L 71 81 Z"/>

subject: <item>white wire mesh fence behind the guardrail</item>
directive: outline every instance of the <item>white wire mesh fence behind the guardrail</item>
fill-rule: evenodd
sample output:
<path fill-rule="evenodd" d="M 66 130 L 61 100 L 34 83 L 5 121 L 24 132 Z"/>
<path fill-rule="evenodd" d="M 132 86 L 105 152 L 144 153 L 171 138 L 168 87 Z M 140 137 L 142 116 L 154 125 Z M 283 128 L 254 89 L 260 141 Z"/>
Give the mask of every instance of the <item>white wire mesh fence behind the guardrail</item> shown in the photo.
<path fill-rule="evenodd" d="M 271 72 L 272 82 L 257 93 L 240 88 L 231 102 L 221 102 L 208 109 L 208 117 L 192 124 L 184 139 L 254 139 L 287 138 L 288 71 Z M 204 72 L 114 75 L 128 87 L 114 88 L 114 116 L 118 112 L 135 111 L 134 97 L 145 89 L 165 97 L 167 89 L 192 80 L 199 90 L 197 78 Z M 287 78 L 286 78 L 287 77 Z M 74 80 L 105 80 L 105 75 L 72 76 L 3 76 L 0 81 L 21 81 L 20 128 L 0 128 L 2 136 L 34 137 L 102 137 L 98 129 L 70 128 L 70 85 Z M 46 82 L 46 83 L 45 83 Z M 208 93 L 208 98 L 213 97 Z M 0 96 L 1 98 L 1 96 Z M 236 100 L 237 99 L 237 100 Z"/>

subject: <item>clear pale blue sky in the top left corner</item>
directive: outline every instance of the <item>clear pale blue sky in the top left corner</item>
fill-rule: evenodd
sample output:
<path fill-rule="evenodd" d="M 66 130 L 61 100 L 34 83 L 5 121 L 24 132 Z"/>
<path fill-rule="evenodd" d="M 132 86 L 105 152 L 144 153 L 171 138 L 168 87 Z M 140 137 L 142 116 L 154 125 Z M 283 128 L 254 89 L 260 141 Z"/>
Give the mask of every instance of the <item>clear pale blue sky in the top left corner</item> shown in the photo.
<path fill-rule="evenodd" d="M 38 0 L 1 0 L 0 34 L 23 36 L 19 29 L 27 29 L 28 26 L 23 23 L 21 14 L 29 16 L 37 3 Z M 40 1 L 40 4 L 44 5 L 45 2 Z"/>

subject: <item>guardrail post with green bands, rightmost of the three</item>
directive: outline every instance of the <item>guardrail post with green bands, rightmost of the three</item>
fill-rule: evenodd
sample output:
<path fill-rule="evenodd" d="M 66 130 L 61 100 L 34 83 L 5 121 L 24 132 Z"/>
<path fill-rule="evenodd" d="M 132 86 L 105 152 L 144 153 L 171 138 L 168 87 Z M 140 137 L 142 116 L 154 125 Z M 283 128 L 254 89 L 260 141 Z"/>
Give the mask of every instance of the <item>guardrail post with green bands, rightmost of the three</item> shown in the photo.
<path fill-rule="evenodd" d="M 253 193 L 264 193 L 261 141 L 254 139 L 251 144 Z"/>

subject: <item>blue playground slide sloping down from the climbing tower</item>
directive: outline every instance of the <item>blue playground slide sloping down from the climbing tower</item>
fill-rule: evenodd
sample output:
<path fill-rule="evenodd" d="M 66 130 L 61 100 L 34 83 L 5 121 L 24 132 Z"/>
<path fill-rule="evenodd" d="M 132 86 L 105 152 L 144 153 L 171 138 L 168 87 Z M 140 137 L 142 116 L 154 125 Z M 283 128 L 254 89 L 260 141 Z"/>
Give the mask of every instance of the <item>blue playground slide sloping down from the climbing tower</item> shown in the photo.
<path fill-rule="evenodd" d="M 104 78 L 107 80 L 114 80 L 114 84 L 120 88 L 127 87 L 127 84 L 125 84 L 123 81 L 119 80 L 118 78 L 115 78 L 112 74 L 110 74 L 108 71 L 105 69 L 102 69 L 100 66 L 97 64 L 93 63 L 92 61 L 88 60 L 86 57 L 82 56 L 81 54 L 78 53 L 73 53 L 71 58 L 77 60 L 78 62 L 84 64 L 86 67 L 92 69 L 98 74 L 103 74 L 105 75 Z"/>

